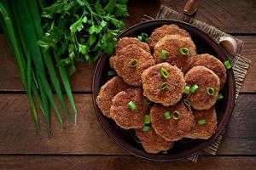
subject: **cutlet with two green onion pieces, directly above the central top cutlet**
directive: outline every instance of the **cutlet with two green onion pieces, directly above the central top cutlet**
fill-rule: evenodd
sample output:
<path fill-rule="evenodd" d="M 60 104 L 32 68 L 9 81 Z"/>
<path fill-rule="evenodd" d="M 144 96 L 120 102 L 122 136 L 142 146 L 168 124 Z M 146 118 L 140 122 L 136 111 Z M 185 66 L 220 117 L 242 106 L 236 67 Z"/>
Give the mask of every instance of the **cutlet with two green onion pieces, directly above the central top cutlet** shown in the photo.
<path fill-rule="evenodd" d="M 189 49 L 188 54 L 183 53 L 182 49 Z M 166 35 L 155 44 L 153 56 L 156 63 L 168 62 L 186 72 L 192 65 L 195 54 L 196 48 L 191 38 Z"/>

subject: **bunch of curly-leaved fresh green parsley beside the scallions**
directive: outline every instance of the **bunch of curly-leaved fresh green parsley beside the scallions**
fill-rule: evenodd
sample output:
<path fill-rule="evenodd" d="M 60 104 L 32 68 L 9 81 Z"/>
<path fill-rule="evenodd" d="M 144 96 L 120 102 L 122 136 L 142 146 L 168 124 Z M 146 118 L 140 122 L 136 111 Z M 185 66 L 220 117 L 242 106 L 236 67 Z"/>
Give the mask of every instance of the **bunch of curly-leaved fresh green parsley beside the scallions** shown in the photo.
<path fill-rule="evenodd" d="M 103 52 L 112 54 L 127 16 L 127 0 L 57 0 L 44 8 L 44 38 L 38 42 L 51 48 L 67 67 L 69 75 L 80 60 L 95 62 Z"/>

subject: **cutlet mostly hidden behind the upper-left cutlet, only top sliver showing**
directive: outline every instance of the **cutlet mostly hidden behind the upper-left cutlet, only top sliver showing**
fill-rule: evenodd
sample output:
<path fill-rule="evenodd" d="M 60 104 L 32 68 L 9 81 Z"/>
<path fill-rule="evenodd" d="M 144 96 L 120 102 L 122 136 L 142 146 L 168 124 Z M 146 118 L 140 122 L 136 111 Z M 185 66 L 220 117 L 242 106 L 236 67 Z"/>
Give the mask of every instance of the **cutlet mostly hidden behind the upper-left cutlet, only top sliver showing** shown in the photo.
<path fill-rule="evenodd" d="M 115 51 L 118 52 L 119 50 L 127 47 L 127 45 L 130 45 L 130 44 L 135 44 L 139 48 L 142 48 L 146 52 L 150 53 L 150 48 L 148 46 L 148 43 L 141 42 L 136 37 L 123 37 L 123 38 L 119 39 L 119 42 L 117 43 Z"/>

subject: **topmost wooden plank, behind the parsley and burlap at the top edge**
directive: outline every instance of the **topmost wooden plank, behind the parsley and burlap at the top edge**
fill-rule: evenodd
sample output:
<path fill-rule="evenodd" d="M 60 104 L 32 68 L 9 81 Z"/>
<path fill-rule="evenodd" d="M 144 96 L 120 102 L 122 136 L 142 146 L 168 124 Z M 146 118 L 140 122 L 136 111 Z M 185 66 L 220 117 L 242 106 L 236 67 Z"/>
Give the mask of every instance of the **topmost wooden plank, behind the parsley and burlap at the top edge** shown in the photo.
<path fill-rule="evenodd" d="M 155 16 L 160 4 L 172 7 L 183 13 L 185 1 L 180 0 L 130 0 L 130 17 L 125 19 L 129 25 L 137 24 L 143 14 Z M 195 19 L 207 22 L 228 33 L 256 33 L 255 1 L 201 0 Z"/>

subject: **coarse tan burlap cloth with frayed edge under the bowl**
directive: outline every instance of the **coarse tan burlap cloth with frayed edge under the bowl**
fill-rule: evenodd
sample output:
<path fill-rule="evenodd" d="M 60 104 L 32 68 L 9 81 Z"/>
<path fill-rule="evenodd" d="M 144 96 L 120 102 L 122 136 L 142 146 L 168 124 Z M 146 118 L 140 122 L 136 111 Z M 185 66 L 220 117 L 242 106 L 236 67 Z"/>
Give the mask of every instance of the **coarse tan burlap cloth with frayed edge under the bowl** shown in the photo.
<path fill-rule="evenodd" d="M 208 25 L 205 22 L 202 22 L 200 20 L 195 20 L 189 16 L 186 16 L 184 14 L 179 14 L 172 8 L 161 6 L 159 13 L 156 15 L 156 17 L 151 17 L 148 15 L 144 15 L 143 21 L 145 20 L 154 20 L 154 19 L 172 19 L 172 20 L 182 20 L 184 22 L 187 22 L 193 26 L 196 26 L 197 28 L 201 29 L 202 31 L 206 32 L 209 36 L 211 36 L 215 41 L 218 42 L 219 37 L 223 36 L 229 36 L 233 37 L 230 34 L 224 33 L 223 31 L 218 30 L 217 28 Z M 241 55 L 244 42 L 242 42 L 240 39 L 233 37 L 238 45 L 238 50 L 236 55 L 228 54 L 228 58 L 230 59 L 230 63 L 232 65 L 232 69 L 234 71 L 235 80 L 236 80 L 236 99 L 239 95 L 241 83 L 243 82 L 244 78 L 246 77 L 247 70 L 249 69 L 249 65 L 251 61 L 244 56 Z M 205 151 L 211 155 L 215 155 L 218 150 L 218 145 L 221 143 L 221 140 L 224 136 L 224 132 L 216 139 L 212 144 L 207 146 Z M 202 153 L 197 153 L 194 156 L 189 157 L 188 159 L 190 161 L 197 161 L 198 156 L 202 155 Z"/>

